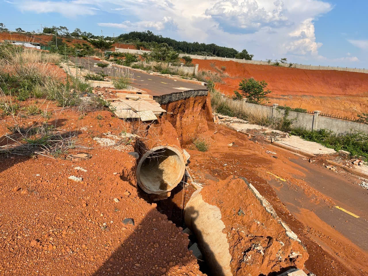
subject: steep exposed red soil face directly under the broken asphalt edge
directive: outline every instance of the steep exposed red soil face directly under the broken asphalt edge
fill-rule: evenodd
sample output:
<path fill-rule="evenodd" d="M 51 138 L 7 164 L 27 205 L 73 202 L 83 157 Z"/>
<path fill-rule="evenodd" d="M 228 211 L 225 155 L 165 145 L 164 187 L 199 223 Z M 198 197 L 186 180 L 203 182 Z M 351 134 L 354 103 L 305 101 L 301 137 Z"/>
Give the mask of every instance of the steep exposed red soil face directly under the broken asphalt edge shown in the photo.
<path fill-rule="evenodd" d="M 177 130 L 181 145 L 190 144 L 199 134 L 206 132 L 207 121 L 212 120 L 209 94 L 177 100 L 161 107 L 167 111 L 166 120 Z"/>

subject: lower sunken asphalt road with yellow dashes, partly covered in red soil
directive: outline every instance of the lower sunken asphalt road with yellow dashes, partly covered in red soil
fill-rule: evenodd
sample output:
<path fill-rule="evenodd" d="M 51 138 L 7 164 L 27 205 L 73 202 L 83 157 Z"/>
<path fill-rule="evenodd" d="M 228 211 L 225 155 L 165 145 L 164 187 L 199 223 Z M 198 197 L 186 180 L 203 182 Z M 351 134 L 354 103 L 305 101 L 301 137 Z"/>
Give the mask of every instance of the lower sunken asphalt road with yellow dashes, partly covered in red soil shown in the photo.
<path fill-rule="evenodd" d="M 269 181 L 290 212 L 302 221 L 300 216 L 306 213 L 301 213 L 300 210 L 310 210 L 323 222 L 368 251 L 368 191 L 351 183 L 353 176 L 347 177 L 346 174 L 315 166 L 302 158 L 290 159 L 290 161 L 296 164 L 296 167 L 303 168 L 300 171 L 305 175 L 303 177 L 294 175 L 296 179 L 306 181 L 310 187 L 335 202 L 335 205 L 332 206 L 328 202 L 314 201 L 308 198 L 300 187 L 292 183 L 283 182 L 281 184 L 280 181 Z M 342 207 L 359 217 L 354 217 L 335 206 Z"/>

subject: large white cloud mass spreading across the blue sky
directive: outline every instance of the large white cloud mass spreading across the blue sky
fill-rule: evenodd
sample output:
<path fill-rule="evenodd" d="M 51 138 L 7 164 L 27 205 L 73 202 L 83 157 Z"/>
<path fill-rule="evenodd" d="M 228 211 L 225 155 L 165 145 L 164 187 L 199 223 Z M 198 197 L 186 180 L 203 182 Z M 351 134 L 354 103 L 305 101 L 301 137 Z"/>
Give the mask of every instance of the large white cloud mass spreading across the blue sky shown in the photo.
<path fill-rule="evenodd" d="M 151 29 L 178 40 L 246 48 L 255 59 L 318 57 L 322 43 L 315 36 L 314 21 L 333 8 L 326 0 L 22 1 L 18 8 L 23 11 L 58 12 L 68 17 L 96 15 L 98 8 L 124 18 L 103 21 L 97 15 L 93 20 L 98 18 L 99 26 Z"/>

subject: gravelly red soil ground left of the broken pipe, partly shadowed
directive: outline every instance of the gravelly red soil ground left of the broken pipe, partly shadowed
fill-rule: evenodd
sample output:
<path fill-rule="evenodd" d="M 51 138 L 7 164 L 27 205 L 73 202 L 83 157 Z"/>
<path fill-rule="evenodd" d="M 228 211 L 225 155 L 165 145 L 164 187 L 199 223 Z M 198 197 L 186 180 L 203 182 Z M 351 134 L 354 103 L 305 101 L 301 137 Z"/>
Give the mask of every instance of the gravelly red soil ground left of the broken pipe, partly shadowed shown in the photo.
<path fill-rule="evenodd" d="M 49 101 L 36 105 L 51 118 L 4 116 L 1 134 L 14 124 L 47 121 L 56 130 L 77 131 L 75 145 L 86 148 L 71 153 L 92 158 L 1 156 L 0 275 L 202 275 L 187 249 L 187 234 L 139 196 L 132 177 L 137 161 L 128 155 L 133 145 L 118 151 L 93 140 L 131 126 L 109 111 L 80 116 Z M 124 224 L 125 218 L 134 225 Z"/>

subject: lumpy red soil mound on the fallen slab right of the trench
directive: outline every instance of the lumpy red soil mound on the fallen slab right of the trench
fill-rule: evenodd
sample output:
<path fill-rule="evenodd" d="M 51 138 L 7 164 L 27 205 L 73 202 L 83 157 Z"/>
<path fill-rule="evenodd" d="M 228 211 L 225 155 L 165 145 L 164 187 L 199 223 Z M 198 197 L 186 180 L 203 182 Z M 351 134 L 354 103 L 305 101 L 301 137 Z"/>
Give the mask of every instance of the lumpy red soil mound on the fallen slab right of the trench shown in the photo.
<path fill-rule="evenodd" d="M 244 180 L 229 177 L 204 187 L 201 194 L 205 202 L 220 209 L 234 276 L 279 274 L 290 266 L 304 269 L 305 247 L 286 235 Z M 296 256 L 290 258 L 293 252 Z"/>

